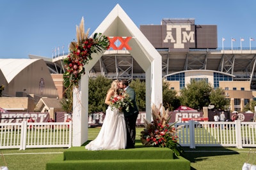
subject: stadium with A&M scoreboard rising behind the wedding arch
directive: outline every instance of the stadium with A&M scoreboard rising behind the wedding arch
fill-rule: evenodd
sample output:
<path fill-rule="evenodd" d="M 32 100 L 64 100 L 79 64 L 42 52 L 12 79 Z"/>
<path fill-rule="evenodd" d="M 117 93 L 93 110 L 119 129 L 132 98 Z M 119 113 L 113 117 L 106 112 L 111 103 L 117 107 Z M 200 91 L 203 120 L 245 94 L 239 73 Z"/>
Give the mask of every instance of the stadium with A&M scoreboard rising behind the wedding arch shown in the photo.
<path fill-rule="evenodd" d="M 159 76 L 169 82 L 170 89 L 179 92 L 191 80 L 206 80 L 212 87 L 225 90 L 225 96 L 230 99 L 227 110 L 231 111 L 243 111 L 245 104 L 255 97 L 255 48 L 218 48 L 217 25 L 196 25 L 194 18 L 163 18 L 160 25 L 141 25 L 140 31 L 161 55 Z M 122 42 L 117 39 L 115 44 L 120 46 Z M 30 59 L 43 59 L 47 64 L 58 89 L 52 93 L 54 97 L 56 94 L 62 97 L 65 57 L 67 53 L 52 59 L 29 55 Z M 127 46 L 104 52 L 88 74 L 92 78 L 102 75 L 110 79 L 145 80 L 145 71 Z"/>

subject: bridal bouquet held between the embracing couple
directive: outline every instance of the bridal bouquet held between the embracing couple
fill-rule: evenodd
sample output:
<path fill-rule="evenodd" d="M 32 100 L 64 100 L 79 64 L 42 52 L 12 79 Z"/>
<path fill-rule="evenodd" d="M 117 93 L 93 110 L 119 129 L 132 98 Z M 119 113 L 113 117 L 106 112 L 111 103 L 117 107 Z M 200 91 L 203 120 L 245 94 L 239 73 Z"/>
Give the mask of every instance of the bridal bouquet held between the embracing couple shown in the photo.
<path fill-rule="evenodd" d="M 124 92 L 122 95 L 116 95 L 111 97 L 111 108 L 118 108 L 122 110 L 125 108 L 125 111 L 129 112 L 129 106 L 132 106 L 131 99 L 127 93 Z"/>

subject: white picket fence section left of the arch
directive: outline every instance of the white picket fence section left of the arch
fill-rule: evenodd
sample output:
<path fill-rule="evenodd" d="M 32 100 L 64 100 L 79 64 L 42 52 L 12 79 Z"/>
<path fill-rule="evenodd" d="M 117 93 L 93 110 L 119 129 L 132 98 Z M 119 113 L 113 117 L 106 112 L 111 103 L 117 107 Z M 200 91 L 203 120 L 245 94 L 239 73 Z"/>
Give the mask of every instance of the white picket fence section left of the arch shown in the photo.
<path fill-rule="evenodd" d="M 0 149 L 71 147 L 72 122 L 0 124 Z"/>

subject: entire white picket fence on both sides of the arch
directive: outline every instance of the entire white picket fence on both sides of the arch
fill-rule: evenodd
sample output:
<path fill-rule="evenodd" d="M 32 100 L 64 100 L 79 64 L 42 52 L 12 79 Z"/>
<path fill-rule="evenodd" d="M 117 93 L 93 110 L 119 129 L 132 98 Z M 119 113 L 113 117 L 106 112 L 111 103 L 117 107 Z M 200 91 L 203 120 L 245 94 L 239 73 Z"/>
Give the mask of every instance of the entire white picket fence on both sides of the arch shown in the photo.
<path fill-rule="evenodd" d="M 256 147 L 256 122 L 182 122 L 181 146 Z M 72 122 L 0 124 L 0 149 L 53 148 L 72 146 Z"/>

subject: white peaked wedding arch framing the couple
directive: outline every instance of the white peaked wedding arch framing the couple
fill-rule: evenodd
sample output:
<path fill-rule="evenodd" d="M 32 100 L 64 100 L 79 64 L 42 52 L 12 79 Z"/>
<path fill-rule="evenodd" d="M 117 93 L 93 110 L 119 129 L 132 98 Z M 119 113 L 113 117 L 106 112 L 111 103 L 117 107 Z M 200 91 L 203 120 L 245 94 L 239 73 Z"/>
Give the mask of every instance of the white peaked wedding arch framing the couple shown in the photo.
<path fill-rule="evenodd" d="M 129 53 L 140 64 L 146 74 L 146 117 L 147 120 L 151 120 L 151 104 L 154 103 L 159 106 L 163 102 L 161 55 L 119 4 L 116 4 L 115 8 L 94 32 L 101 32 L 108 37 L 132 37 L 129 41 L 129 46 L 132 48 Z M 86 74 L 79 82 L 79 89 L 74 89 L 73 146 L 81 146 L 88 139 L 88 73 L 101 56 L 102 54 L 93 53 L 93 59 L 84 66 Z"/>

